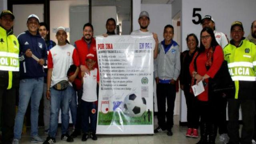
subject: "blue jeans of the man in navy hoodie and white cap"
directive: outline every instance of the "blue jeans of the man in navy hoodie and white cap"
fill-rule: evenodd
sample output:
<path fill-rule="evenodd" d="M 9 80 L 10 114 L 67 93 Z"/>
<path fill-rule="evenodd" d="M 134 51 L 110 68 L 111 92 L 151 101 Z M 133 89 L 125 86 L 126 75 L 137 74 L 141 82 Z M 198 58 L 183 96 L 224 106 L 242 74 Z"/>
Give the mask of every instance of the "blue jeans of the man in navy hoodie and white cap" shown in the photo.
<path fill-rule="evenodd" d="M 24 115 L 28 108 L 28 103 L 31 98 L 31 136 L 38 135 L 38 109 L 40 100 L 43 94 L 44 77 L 41 78 L 29 78 L 20 80 L 19 89 L 19 106 L 18 113 L 15 118 L 14 125 L 14 138 L 20 139 L 22 133 L 22 126 Z"/>

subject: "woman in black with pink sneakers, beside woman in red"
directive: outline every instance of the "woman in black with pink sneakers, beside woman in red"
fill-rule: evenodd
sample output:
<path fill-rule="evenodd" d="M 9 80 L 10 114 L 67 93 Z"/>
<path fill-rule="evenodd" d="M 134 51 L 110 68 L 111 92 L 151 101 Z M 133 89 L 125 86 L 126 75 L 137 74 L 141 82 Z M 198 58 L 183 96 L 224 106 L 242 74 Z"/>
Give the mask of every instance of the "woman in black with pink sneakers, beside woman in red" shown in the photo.
<path fill-rule="evenodd" d="M 187 137 L 198 138 L 198 126 L 199 126 L 199 112 L 198 112 L 198 99 L 194 94 L 190 93 L 191 87 L 191 75 L 189 72 L 189 65 L 194 57 L 194 54 L 199 49 L 198 39 L 195 34 L 188 34 L 186 38 L 187 46 L 189 50 L 185 50 L 180 55 L 180 88 L 184 91 L 187 104 L 187 122 L 188 130 Z"/>

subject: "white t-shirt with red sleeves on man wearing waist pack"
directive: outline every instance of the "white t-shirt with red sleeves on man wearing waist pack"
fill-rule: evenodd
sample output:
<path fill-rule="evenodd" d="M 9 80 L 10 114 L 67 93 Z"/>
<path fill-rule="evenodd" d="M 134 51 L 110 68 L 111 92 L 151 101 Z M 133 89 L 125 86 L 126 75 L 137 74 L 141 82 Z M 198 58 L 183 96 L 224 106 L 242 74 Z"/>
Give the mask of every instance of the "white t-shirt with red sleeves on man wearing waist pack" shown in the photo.
<path fill-rule="evenodd" d="M 79 58 L 74 46 L 70 44 L 56 45 L 50 49 L 48 68 L 52 68 L 51 87 L 62 80 L 68 81 L 67 72 L 72 64 L 79 66 Z"/>

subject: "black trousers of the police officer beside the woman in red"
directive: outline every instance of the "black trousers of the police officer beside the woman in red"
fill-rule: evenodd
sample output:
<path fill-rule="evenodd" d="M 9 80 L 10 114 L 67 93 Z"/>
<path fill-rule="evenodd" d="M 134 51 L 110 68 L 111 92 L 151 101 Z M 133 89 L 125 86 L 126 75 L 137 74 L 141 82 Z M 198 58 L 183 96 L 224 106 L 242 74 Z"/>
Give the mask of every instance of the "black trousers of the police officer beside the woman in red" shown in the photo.
<path fill-rule="evenodd" d="M 230 142 L 239 144 L 239 108 L 242 109 L 242 132 L 241 144 L 251 144 L 254 132 L 254 115 L 255 104 L 254 100 L 238 100 L 228 99 L 228 136 Z"/>

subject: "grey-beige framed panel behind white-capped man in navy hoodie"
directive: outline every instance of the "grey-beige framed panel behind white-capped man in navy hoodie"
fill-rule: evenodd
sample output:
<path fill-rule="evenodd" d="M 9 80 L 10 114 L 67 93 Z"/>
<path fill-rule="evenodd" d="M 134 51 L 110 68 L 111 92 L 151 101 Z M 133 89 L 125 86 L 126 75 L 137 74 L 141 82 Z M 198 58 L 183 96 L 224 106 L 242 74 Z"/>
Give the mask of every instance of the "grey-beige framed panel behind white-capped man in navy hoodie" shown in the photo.
<path fill-rule="evenodd" d="M 27 18 L 30 14 L 36 14 L 40 22 L 44 21 L 44 4 L 15 4 L 13 5 L 15 16 L 13 31 L 16 36 L 28 30 Z"/>

